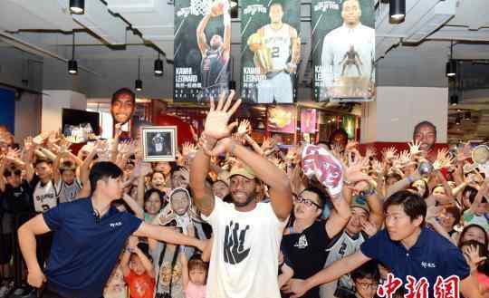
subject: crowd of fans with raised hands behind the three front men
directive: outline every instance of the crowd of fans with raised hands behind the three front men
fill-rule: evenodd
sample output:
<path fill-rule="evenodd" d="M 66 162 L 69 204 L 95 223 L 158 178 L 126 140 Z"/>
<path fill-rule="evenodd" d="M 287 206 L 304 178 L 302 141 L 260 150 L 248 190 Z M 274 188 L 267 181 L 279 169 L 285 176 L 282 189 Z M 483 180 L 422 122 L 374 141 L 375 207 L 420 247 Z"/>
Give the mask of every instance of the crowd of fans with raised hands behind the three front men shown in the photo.
<path fill-rule="evenodd" d="M 392 216 L 386 210 L 386 201 L 398 194 L 407 196 L 406 192 L 423 198 L 426 208 L 411 210 L 412 213 L 405 207 L 402 216 L 407 216 L 409 223 L 420 216 L 423 220 L 419 226 L 426 225 L 445 237 L 444 245 L 450 242 L 457 246 L 476 277 L 479 292 L 489 294 L 489 266 L 485 261 L 489 184 L 484 173 L 471 164 L 469 145 L 456 152 L 447 149 L 427 152 L 420 149 L 420 143 L 413 142 L 401 152 L 394 148 L 382 152 L 367 148 L 360 153 L 355 141 L 349 141 L 344 147 L 317 144 L 342 163 L 344 181 L 340 199 L 336 200 L 331 198 L 321 179 L 304 175 L 303 146 L 282 149 L 273 138 L 265 138 L 259 145 L 250 133 L 250 123 L 243 120 L 236 125 L 233 139 L 273 163 L 292 187 L 292 214 L 283 230 L 278 260 L 277 279 L 283 297 L 291 293 L 323 298 L 376 296 L 379 284 L 386 281 L 391 268 L 375 260 L 306 292 L 298 289 L 303 285 L 300 280 L 307 280 L 335 261 L 356 253 L 370 237 L 379 235 L 387 225 L 387 217 Z M 16 144 L 14 136 L 2 127 L 0 297 L 14 292 L 11 279 L 13 255 L 18 254 L 16 229 L 32 216 L 56 205 L 89 197 L 90 169 L 100 161 L 113 162 L 123 171 L 123 196 L 115 202 L 120 212 L 132 213 L 153 225 L 174 226 L 181 233 L 199 239 L 213 236 L 212 228 L 203 219 L 205 216 L 193 202 L 194 192 L 189 186 L 191 165 L 205 139 L 184 144 L 175 162 L 148 163 L 142 160 L 139 139 L 120 139 L 119 135 L 120 131 L 116 131 L 114 139 L 87 144 L 75 155 L 72 144 L 58 132 L 43 132 Z M 435 168 L 433 172 L 419 169 L 419 164 L 426 161 Z M 206 186 L 212 188 L 216 199 L 233 204 L 230 179 L 236 176 L 255 180 L 254 201 L 270 204 L 269 187 L 233 154 L 212 157 Z M 42 267 L 49 258 L 51 241 L 49 234 L 39 239 Z M 129 294 L 135 298 L 205 297 L 211 246 L 209 241 L 206 249 L 198 252 L 188 246 L 132 236 L 120 253 L 104 297 L 129 297 Z M 16 291 L 17 294 L 29 292 L 25 287 Z"/>

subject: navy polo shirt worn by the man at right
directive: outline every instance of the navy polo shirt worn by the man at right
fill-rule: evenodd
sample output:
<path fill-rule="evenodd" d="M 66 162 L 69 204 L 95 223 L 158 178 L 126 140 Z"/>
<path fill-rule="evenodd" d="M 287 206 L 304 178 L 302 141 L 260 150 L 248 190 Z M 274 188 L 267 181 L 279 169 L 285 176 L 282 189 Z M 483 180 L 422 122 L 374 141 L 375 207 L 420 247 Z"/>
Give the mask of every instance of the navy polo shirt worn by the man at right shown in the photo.
<path fill-rule="evenodd" d="M 426 277 L 428 293 L 432 295 L 436 277 L 444 279 L 457 275 L 462 281 L 470 274 L 470 268 L 460 250 L 443 236 L 427 227 L 421 229 L 416 245 L 409 250 L 398 241 L 388 237 L 387 230 L 381 230 L 360 246 L 363 255 L 387 265 L 392 274 L 404 284 L 411 275 L 418 281 Z"/>

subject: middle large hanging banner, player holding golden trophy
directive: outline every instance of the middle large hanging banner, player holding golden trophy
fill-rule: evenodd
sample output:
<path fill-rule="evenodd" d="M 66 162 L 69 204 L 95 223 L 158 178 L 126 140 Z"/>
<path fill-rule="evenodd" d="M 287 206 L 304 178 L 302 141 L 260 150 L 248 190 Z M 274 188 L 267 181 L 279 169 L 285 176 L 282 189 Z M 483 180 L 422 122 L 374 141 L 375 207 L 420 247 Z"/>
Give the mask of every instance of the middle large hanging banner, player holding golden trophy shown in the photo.
<path fill-rule="evenodd" d="M 301 1 L 241 1 L 241 97 L 292 103 L 301 60 Z"/>

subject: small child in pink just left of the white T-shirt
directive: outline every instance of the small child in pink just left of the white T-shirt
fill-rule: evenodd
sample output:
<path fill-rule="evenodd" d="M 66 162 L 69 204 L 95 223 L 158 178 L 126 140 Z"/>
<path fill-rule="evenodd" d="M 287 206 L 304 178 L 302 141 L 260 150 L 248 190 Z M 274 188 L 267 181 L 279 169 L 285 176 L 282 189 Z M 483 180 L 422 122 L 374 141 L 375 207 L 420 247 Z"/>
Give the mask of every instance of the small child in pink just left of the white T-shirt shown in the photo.
<path fill-rule="evenodd" d="M 200 255 L 192 255 L 187 260 L 185 254 L 180 254 L 182 263 L 182 279 L 187 298 L 206 298 L 207 264 Z"/>

